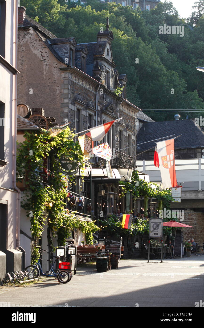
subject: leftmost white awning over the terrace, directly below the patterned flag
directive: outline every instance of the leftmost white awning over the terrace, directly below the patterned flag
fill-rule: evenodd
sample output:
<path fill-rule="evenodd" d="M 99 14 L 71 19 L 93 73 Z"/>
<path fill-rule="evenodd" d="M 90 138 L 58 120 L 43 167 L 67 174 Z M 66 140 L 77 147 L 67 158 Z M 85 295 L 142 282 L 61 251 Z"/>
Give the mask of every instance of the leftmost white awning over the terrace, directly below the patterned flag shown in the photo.
<path fill-rule="evenodd" d="M 90 173 L 91 173 L 91 179 L 93 182 L 98 180 L 98 181 L 104 181 L 104 183 L 107 183 L 109 181 L 113 182 L 113 180 L 115 182 L 121 180 L 121 175 L 117 169 L 112 169 L 112 174 L 113 174 L 112 178 L 107 177 L 106 169 L 95 168 L 95 169 L 92 169 L 91 172 L 89 170 L 84 171 L 83 175 L 84 175 L 85 179 L 90 179 Z"/>

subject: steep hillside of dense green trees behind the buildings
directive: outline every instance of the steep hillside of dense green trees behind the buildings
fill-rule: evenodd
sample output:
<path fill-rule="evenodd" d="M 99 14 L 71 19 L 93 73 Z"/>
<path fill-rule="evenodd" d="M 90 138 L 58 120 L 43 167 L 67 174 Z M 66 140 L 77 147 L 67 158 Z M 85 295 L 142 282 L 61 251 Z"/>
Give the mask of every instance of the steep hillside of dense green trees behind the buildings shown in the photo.
<path fill-rule="evenodd" d="M 198 2 L 204 11 L 204 0 Z M 154 120 L 172 120 L 175 113 L 182 119 L 187 114 L 204 115 L 204 110 L 190 111 L 204 108 L 204 73 L 195 69 L 204 66 L 204 18 L 196 8 L 186 22 L 166 2 L 143 12 L 97 0 L 87 0 L 86 6 L 64 0 L 21 0 L 20 5 L 52 33 L 74 36 L 77 43 L 95 42 L 109 17 L 114 61 L 120 74 L 128 78 L 127 99 Z M 183 25 L 184 36 L 159 34 L 164 24 Z M 158 113 L 157 109 L 176 111 Z"/>

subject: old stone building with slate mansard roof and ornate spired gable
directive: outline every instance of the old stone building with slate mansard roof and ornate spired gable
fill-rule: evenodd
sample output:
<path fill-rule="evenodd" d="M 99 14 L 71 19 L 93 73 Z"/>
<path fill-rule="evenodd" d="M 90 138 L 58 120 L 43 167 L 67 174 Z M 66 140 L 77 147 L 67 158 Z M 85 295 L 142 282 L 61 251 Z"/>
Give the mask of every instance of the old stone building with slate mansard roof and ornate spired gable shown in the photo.
<path fill-rule="evenodd" d="M 77 44 L 71 36 L 57 38 L 26 16 L 26 8 L 19 8 L 18 103 L 43 108 L 58 124 L 70 122 L 76 133 L 122 117 L 99 142 L 107 141 L 112 149 L 113 178 L 107 178 L 105 161 L 99 157 L 90 159 L 92 184 L 89 173 L 85 175 L 82 195 L 92 199 L 93 218 L 101 210 L 104 215 L 115 213 L 117 207 L 124 210 L 118 182 L 130 180 L 136 166 L 136 114 L 141 110 L 126 99 L 128 77 L 114 63 L 113 39 L 108 19 L 96 42 Z M 117 87 L 123 87 L 119 95 Z"/>

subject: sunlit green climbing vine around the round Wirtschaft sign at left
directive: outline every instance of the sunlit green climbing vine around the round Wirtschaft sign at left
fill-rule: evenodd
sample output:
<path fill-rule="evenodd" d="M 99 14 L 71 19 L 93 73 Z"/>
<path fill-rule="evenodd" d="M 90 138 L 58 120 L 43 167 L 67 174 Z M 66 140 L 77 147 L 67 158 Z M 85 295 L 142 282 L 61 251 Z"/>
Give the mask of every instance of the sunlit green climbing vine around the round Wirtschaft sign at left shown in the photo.
<path fill-rule="evenodd" d="M 25 132 L 25 140 L 18 144 L 17 152 L 17 181 L 25 180 L 26 189 L 23 193 L 21 206 L 27 211 L 31 222 L 31 236 L 37 240 L 42 236 L 44 225 L 48 224 L 49 246 L 52 250 L 52 238 L 58 236 L 58 244 L 64 245 L 70 230 L 79 228 L 91 243 L 92 232 L 99 230 L 94 222 L 80 221 L 74 213 L 66 209 L 67 186 L 72 184 L 73 176 L 67 178 L 62 172 L 59 158 L 69 154 L 70 160 L 76 160 L 81 168 L 84 167 L 83 154 L 79 143 L 74 142 L 73 135 L 67 127 L 54 138 L 46 131 L 43 133 Z M 46 156 L 50 158 L 51 171 L 46 186 L 43 185 Z M 47 220 L 48 215 L 48 220 Z M 32 252 L 32 260 L 38 255 L 38 248 Z"/>

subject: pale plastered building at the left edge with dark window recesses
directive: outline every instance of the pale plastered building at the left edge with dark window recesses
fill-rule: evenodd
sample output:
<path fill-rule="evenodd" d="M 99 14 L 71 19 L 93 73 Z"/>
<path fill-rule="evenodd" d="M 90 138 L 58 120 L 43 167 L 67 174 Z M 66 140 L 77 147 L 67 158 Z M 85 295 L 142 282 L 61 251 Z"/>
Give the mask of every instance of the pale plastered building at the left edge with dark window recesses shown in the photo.
<path fill-rule="evenodd" d="M 16 187 L 17 0 L 0 1 L 0 283 L 21 270 Z"/>

